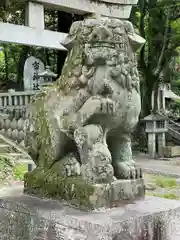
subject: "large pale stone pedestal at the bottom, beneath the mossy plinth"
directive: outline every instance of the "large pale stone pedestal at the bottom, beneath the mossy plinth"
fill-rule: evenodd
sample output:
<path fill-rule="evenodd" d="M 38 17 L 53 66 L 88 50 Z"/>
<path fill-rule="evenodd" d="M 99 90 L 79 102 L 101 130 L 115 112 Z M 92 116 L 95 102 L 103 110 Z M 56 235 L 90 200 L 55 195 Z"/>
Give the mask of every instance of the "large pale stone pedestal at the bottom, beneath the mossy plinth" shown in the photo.
<path fill-rule="evenodd" d="M 13 186 L 0 191 L 0 222 L 2 240 L 179 240 L 180 201 L 147 197 L 82 211 Z"/>

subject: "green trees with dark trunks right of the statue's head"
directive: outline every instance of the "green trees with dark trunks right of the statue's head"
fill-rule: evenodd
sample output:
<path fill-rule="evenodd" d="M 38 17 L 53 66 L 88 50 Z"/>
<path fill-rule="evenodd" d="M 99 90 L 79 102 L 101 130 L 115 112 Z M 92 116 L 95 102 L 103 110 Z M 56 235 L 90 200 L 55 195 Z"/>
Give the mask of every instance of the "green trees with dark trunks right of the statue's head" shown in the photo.
<path fill-rule="evenodd" d="M 137 8 L 133 9 L 132 21 L 146 39 L 139 52 L 142 116 L 151 111 L 152 91 L 155 91 L 153 110 L 156 112 L 159 83 L 172 80 L 173 60 L 180 46 L 179 17 L 179 0 L 139 0 Z"/>

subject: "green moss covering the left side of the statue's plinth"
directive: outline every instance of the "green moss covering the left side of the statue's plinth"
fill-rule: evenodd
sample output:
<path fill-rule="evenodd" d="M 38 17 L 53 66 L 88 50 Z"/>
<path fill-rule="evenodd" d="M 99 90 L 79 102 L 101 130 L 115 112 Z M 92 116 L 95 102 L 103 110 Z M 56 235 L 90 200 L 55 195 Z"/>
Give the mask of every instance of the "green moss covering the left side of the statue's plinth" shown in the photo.
<path fill-rule="evenodd" d="M 66 200 L 78 207 L 92 208 L 90 196 L 94 193 L 92 185 L 81 176 L 65 177 L 54 169 L 37 167 L 25 174 L 25 192 L 58 200 Z"/>

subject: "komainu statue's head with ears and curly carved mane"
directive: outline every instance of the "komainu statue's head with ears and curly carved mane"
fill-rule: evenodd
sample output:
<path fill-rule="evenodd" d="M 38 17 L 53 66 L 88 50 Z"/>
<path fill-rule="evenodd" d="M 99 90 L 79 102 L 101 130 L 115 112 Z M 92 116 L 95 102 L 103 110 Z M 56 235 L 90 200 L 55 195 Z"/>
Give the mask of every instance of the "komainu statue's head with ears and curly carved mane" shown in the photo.
<path fill-rule="evenodd" d="M 111 68 L 112 75 L 121 72 L 128 75 L 130 69 L 138 75 L 135 52 L 142 44 L 144 39 L 135 34 L 128 21 L 91 18 L 73 23 L 64 42 L 69 53 L 60 87 L 67 91 L 86 86 L 101 66 L 106 66 L 106 70 Z"/>

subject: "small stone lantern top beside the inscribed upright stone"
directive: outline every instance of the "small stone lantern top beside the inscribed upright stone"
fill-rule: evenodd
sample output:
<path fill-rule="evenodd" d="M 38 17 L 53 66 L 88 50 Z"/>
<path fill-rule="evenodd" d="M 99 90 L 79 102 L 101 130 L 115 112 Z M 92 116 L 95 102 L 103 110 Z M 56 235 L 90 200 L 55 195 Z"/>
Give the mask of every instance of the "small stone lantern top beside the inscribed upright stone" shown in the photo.
<path fill-rule="evenodd" d="M 50 70 L 50 67 L 47 66 L 44 72 L 38 74 L 38 77 L 40 78 L 39 88 L 41 89 L 42 87 L 47 87 L 49 85 L 52 85 L 53 79 L 57 78 L 57 76 L 58 75 L 52 72 Z"/>

